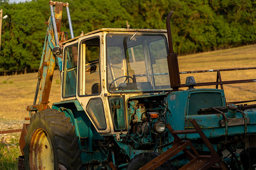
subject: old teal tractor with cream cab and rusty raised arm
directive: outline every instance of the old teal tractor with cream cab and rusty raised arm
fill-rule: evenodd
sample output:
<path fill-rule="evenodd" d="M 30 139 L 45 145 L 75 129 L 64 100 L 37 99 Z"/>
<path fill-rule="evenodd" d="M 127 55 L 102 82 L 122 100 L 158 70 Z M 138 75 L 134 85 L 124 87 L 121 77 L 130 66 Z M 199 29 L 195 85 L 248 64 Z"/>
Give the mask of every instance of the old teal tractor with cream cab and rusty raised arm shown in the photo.
<path fill-rule="evenodd" d="M 180 83 L 172 12 L 167 31 L 104 28 L 74 37 L 68 3 L 49 5 L 30 124 L 20 137 L 26 169 L 253 168 L 256 106 L 227 105 L 223 90 L 195 88 L 192 76 Z M 63 7 L 71 39 L 60 31 Z M 61 99 L 49 108 L 56 65 Z"/>

